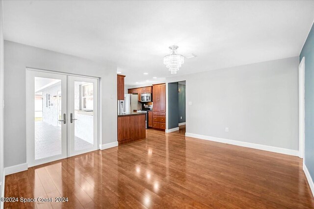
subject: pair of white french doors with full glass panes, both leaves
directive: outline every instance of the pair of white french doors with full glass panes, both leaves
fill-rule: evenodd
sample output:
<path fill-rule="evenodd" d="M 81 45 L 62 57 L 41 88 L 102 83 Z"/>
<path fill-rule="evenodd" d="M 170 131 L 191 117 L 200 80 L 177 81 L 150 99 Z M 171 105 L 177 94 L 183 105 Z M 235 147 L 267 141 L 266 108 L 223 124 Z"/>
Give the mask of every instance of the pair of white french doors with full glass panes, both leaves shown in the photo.
<path fill-rule="evenodd" d="M 98 79 L 26 70 L 28 166 L 98 149 Z"/>

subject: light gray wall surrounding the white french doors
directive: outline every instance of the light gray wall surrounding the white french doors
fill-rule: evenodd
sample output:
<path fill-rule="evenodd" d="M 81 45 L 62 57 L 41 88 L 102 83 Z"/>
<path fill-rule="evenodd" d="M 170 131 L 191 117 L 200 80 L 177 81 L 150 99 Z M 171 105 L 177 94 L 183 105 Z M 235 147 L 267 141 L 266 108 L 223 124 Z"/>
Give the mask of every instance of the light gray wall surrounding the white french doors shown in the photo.
<path fill-rule="evenodd" d="M 100 77 L 101 143 L 117 141 L 115 66 L 9 41 L 4 41 L 4 53 L 4 88 L 10 90 L 4 93 L 5 167 L 26 163 L 26 67 Z"/>

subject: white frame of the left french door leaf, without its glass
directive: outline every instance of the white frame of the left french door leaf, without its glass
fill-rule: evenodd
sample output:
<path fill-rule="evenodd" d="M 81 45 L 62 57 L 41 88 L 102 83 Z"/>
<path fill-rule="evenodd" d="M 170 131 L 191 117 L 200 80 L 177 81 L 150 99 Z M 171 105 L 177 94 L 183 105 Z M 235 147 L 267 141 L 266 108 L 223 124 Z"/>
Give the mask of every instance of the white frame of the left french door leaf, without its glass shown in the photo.
<path fill-rule="evenodd" d="M 67 124 L 61 123 L 61 154 L 35 160 L 35 123 L 34 123 L 34 93 L 35 77 L 54 78 L 61 80 L 62 114 L 67 114 L 67 76 L 51 72 L 26 70 L 26 162 L 28 167 L 49 163 L 67 157 Z M 17 118 L 18 119 L 18 118 Z"/>

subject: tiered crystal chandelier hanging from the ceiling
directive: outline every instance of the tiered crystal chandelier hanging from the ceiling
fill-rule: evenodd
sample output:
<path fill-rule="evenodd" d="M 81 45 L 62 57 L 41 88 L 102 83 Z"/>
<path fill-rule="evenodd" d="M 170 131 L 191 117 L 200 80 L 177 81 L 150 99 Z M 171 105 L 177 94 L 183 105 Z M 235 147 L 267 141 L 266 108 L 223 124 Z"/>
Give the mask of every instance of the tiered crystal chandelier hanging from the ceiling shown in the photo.
<path fill-rule="evenodd" d="M 169 46 L 169 48 L 172 54 L 168 54 L 163 58 L 163 64 L 169 68 L 171 74 L 177 74 L 177 71 L 184 63 L 184 57 L 181 54 L 177 54 L 177 48 L 179 48 L 179 46 Z"/>

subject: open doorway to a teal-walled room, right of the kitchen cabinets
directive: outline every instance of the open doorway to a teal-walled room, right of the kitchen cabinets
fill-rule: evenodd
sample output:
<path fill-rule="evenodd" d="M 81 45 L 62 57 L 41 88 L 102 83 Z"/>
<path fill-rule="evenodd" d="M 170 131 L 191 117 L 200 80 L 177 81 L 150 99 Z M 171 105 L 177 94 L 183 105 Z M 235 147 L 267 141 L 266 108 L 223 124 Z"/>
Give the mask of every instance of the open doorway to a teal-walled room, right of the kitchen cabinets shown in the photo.
<path fill-rule="evenodd" d="M 186 82 L 168 83 L 168 129 L 185 135 L 186 127 Z"/>

